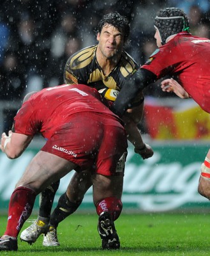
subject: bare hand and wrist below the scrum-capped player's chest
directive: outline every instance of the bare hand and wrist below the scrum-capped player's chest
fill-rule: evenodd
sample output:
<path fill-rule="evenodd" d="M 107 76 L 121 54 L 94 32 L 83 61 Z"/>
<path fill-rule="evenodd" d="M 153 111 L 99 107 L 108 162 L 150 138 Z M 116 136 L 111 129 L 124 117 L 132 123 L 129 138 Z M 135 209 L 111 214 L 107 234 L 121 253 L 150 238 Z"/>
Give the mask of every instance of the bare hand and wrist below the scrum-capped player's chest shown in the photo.
<path fill-rule="evenodd" d="M 188 99 L 190 95 L 184 90 L 183 86 L 173 78 L 165 79 L 161 82 L 163 92 L 174 92 L 181 99 Z"/>

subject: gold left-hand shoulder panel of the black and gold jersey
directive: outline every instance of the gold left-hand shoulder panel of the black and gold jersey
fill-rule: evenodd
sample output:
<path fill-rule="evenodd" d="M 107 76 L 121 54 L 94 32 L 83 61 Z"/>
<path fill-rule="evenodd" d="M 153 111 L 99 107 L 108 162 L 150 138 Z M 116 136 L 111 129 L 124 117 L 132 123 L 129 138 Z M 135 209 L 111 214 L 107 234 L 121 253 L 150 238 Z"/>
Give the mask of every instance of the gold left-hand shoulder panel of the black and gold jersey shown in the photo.
<path fill-rule="evenodd" d="M 71 55 L 66 65 L 73 69 L 86 67 L 94 58 L 97 45 L 91 45 Z"/>

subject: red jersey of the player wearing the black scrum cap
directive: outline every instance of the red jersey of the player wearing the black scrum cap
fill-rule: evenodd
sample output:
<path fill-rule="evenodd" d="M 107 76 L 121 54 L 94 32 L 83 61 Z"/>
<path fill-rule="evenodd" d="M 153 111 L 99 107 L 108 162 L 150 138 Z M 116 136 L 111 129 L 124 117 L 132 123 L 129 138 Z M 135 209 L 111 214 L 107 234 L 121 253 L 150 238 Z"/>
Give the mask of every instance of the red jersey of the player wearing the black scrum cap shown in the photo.
<path fill-rule="evenodd" d="M 210 113 L 210 40 L 177 34 L 167 44 L 153 52 L 141 68 L 150 70 L 158 79 L 176 76 L 191 98 Z"/>

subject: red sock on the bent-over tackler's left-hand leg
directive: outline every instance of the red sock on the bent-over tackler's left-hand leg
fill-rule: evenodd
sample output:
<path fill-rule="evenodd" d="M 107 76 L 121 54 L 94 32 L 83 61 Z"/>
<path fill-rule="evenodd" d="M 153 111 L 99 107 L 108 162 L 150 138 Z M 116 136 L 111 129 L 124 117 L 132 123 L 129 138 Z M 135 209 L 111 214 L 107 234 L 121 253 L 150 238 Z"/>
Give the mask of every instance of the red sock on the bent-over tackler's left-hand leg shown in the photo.
<path fill-rule="evenodd" d="M 24 222 L 31 215 L 36 194 L 28 188 L 15 189 L 10 198 L 8 223 L 4 235 L 17 237 Z"/>

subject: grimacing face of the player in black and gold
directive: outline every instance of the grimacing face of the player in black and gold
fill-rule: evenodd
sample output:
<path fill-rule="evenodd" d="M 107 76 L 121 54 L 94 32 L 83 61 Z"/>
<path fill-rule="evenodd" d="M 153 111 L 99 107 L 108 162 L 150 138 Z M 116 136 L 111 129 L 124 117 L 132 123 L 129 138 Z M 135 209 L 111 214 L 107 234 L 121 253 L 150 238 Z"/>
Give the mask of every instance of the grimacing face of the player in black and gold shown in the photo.
<path fill-rule="evenodd" d="M 97 35 L 98 47 L 105 58 L 113 58 L 121 54 L 124 45 L 123 33 L 111 25 L 104 26 Z"/>

